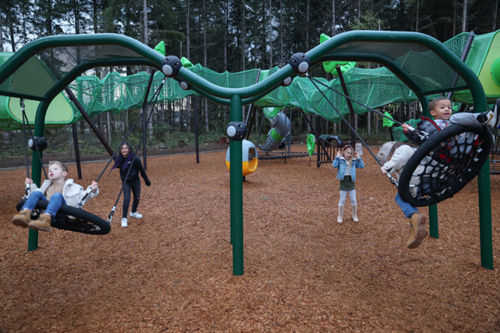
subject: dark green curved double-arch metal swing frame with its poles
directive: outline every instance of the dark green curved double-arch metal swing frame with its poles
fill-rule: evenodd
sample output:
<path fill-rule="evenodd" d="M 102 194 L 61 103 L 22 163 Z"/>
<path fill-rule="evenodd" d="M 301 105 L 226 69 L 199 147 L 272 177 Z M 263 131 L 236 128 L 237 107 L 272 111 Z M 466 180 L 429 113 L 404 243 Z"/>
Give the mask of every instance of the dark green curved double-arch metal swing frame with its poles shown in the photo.
<path fill-rule="evenodd" d="M 47 49 L 57 52 L 46 52 Z M 376 51 L 373 51 L 376 50 Z M 77 59 L 76 54 L 80 57 Z M 37 57 L 48 67 L 64 63 L 60 77 L 52 77 L 50 85 L 34 86 L 23 82 L 28 95 L 19 86 L 3 84 L 11 77 L 23 78 L 32 72 L 29 59 Z M 210 100 L 230 106 L 230 159 L 242 160 L 241 133 L 246 134 L 242 121 L 242 106 L 256 103 L 275 90 L 280 90 L 290 78 L 307 73 L 310 66 L 324 61 L 372 61 L 389 68 L 416 95 L 428 114 L 428 95 L 469 89 L 477 110 L 486 110 L 484 90 L 474 73 L 460 59 L 437 40 L 419 33 L 354 31 L 332 38 L 305 54 L 295 54 L 284 68 L 256 84 L 241 88 L 226 88 L 213 84 L 196 73 L 183 68 L 175 56 L 163 57 L 143 44 L 119 35 L 57 36 L 39 39 L 28 44 L 0 67 L 0 94 L 23 97 L 41 102 L 35 119 L 35 136 L 41 136 L 44 119 L 51 100 L 69 85 L 79 73 L 97 66 L 146 65 L 159 68 L 180 83 L 183 89 L 192 89 Z M 415 62 L 427 64 L 421 73 Z M 411 64 L 411 66 L 409 65 Z M 437 70 L 439 69 L 439 70 Z M 459 79 L 453 82 L 454 75 Z M 13 80 L 12 82 L 14 82 Z M 299 81 L 301 82 L 301 81 Z M 32 89 L 30 89 L 32 88 Z M 318 96 L 315 96 L 318 99 Z M 234 133 L 234 135 L 231 135 Z M 33 179 L 40 183 L 41 165 L 33 159 Z M 231 191 L 231 243 L 233 245 L 233 274 L 243 274 L 243 196 L 242 166 L 233 164 L 230 170 Z M 484 267 L 493 268 L 491 244 L 491 199 L 489 196 L 489 170 L 483 166 L 479 174 L 479 205 L 481 229 L 481 261 Z M 431 235 L 437 237 L 437 207 L 430 207 Z M 432 228 L 435 228 L 434 230 Z M 31 236 L 31 231 L 30 231 Z M 36 235 L 37 236 L 37 235 Z M 33 236 L 35 237 L 35 236 Z"/>

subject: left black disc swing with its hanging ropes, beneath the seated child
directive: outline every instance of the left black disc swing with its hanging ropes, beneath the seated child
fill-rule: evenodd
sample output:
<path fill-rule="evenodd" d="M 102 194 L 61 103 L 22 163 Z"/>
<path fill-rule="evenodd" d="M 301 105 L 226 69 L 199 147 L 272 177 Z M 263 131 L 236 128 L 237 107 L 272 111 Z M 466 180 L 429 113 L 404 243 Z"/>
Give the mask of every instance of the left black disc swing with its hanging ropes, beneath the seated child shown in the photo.
<path fill-rule="evenodd" d="M 47 147 L 47 141 L 45 141 L 45 138 L 35 138 L 33 136 L 33 132 L 31 131 L 28 122 L 28 117 L 26 116 L 25 112 L 24 99 L 21 99 L 20 104 L 23 113 L 23 136 L 25 143 L 26 170 L 28 178 L 30 178 L 30 171 L 28 164 L 28 145 L 34 151 L 35 155 L 38 156 L 38 159 L 40 160 L 40 165 L 42 165 L 42 170 L 45 175 L 45 178 L 48 178 L 47 173 L 45 172 L 45 168 L 43 167 L 42 158 L 40 156 L 40 151 Z M 29 142 L 27 142 L 26 138 L 25 124 L 28 126 L 28 131 L 31 136 Z M 94 215 L 92 213 L 89 213 L 81 209 L 90 191 L 91 190 L 88 189 L 85 195 L 82 197 L 82 199 L 80 199 L 80 201 L 78 202 L 79 208 L 71 207 L 64 204 L 61 205 L 61 208 L 59 208 L 58 212 L 64 214 L 64 216 L 62 214 L 57 214 L 56 217 L 52 219 L 50 226 L 57 229 L 81 232 L 90 235 L 105 235 L 109 233 L 111 230 L 111 226 L 108 222 L 106 222 L 97 215 Z M 26 184 L 25 195 L 23 197 L 23 200 L 18 202 L 16 205 L 17 211 L 19 211 L 22 208 L 24 202 L 26 201 L 29 195 L 30 195 L 30 185 Z M 46 200 L 38 200 L 38 203 L 35 209 L 33 210 L 33 213 L 31 214 L 31 219 L 32 220 L 37 219 L 41 211 L 47 208 L 47 204 L 48 201 Z"/>

